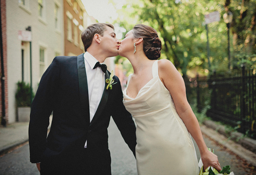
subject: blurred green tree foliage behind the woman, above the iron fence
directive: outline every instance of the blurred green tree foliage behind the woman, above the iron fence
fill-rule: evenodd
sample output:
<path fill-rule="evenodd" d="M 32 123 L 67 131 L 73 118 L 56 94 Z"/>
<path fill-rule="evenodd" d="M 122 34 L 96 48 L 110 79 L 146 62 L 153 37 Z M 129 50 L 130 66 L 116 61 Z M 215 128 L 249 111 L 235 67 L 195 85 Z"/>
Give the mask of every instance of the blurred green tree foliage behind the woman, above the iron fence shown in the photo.
<path fill-rule="evenodd" d="M 208 24 L 209 67 L 204 15 L 214 11 L 221 18 Z M 228 67 L 228 28 L 223 20 L 228 11 L 233 13 L 231 67 Z M 255 68 L 256 0 L 129 0 L 117 13 L 119 18 L 115 23 L 126 32 L 138 23 L 154 27 L 162 40 L 161 59 L 172 61 L 183 77 L 208 75 L 213 71 L 224 74 L 242 64 Z M 117 57 L 116 63 L 126 62 L 125 58 Z M 132 72 L 130 66 L 126 68 L 128 73 Z"/>

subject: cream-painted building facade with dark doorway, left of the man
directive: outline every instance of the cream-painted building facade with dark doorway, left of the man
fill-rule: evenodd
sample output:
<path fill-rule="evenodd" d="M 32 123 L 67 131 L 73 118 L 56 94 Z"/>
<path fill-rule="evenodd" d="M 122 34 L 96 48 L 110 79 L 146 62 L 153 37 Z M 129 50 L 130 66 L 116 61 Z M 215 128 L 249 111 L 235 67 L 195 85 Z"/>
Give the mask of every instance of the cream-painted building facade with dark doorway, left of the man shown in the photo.
<path fill-rule="evenodd" d="M 6 9 L 8 123 L 13 123 L 18 81 L 32 81 L 36 92 L 54 57 L 64 55 L 63 0 L 7 0 Z"/>

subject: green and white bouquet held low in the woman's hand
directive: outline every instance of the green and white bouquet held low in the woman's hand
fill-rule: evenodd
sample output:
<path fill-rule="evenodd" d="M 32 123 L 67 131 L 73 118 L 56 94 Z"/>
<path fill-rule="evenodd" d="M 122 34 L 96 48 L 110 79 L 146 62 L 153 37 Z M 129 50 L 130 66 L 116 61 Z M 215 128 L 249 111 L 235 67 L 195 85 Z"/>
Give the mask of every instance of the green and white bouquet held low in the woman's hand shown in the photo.
<path fill-rule="evenodd" d="M 213 149 L 208 148 L 208 150 L 211 151 L 212 153 L 214 153 Z M 230 172 L 229 165 L 223 167 L 220 172 L 218 172 L 218 170 L 213 167 L 208 167 L 204 170 L 203 164 L 202 164 L 202 159 L 200 159 L 200 161 L 198 162 L 198 166 L 201 168 L 199 175 L 234 175 L 233 172 Z"/>

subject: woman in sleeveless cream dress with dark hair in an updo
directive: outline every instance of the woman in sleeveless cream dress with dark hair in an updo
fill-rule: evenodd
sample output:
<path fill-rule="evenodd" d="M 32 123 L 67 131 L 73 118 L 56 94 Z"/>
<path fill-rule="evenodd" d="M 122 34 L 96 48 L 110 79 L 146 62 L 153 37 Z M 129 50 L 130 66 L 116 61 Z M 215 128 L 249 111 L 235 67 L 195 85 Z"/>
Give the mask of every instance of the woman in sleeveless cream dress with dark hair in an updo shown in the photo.
<path fill-rule="evenodd" d="M 129 31 L 119 47 L 119 54 L 134 68 L 123 91 L 123 103 L 137 124 L 138 175 L 198 175 L 190 134 L 204 167 L 221 170 L 217 156 L 203 141 L 181 74 L 170 61 L 156 61 L 161 48 L 155 29 L 142 24 Z"/>

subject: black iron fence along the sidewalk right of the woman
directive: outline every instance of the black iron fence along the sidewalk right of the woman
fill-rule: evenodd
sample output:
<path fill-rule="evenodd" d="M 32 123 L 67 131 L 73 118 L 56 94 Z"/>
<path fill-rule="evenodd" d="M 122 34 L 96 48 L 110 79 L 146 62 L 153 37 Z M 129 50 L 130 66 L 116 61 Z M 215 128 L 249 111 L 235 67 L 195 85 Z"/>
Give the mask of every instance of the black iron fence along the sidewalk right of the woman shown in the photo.
<path fill-rule="evenodd" d="M 207 116 L 256 139 L 256 71 L 232 72 L 185 81 L 188 101 L 196 99 L 199 112 L 210 105 Z"/>

